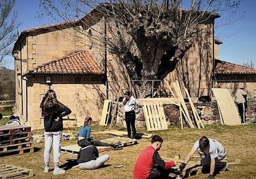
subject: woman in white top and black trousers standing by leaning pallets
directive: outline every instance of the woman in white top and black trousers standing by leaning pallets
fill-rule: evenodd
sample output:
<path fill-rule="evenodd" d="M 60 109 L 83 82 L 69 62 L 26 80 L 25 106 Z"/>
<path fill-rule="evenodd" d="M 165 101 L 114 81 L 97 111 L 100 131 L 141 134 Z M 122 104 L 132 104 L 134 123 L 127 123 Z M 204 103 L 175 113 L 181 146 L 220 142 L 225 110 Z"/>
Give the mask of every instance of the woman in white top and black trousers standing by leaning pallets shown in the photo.
<path fill-rule="evenodd" d="M 135 120 L 136 115 L 134 109 L 137 106 L 140 106 L 138 100 L 131 96 L 131 92 L 125 92 L 125 97 L 122 100 L 122 104 L 125 106 L 125 122 L 127 126 L 127 135 L 129 138 L 135 138 L 136 136 L 136 128 L 135 128 Z M 132 130 L 132 135 L 131 135 Z"/>

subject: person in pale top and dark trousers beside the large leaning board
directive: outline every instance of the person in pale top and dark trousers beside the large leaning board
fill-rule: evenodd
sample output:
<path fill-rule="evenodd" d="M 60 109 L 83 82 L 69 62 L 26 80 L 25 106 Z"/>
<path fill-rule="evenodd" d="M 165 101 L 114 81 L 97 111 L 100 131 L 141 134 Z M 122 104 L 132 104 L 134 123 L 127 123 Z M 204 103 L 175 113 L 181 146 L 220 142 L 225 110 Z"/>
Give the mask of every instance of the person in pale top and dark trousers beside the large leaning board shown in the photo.
<path fill-rule="evenodd" d="M 246 124 L 247 94 L 243 88 L 236 90 L 235 101 L 239 108 L 241 123 Z"/>

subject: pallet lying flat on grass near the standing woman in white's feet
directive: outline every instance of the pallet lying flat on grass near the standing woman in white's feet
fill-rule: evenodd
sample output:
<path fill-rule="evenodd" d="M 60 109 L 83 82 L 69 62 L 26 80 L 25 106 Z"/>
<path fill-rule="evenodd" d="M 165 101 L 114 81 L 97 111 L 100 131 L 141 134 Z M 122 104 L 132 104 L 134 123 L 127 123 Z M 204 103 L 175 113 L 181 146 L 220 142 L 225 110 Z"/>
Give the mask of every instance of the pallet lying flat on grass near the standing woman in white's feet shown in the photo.
<path fill-rule="evenodd" d="M 138 143 L 137 140 L 134 138 L 125 138 L 125 137 L 111 137 L 111 138 L 101 139 L 99 141 L 101 141 L 102 143 L 110 143 L 110 144 L 121 142 L 120 147 L 134 145 Z"/>

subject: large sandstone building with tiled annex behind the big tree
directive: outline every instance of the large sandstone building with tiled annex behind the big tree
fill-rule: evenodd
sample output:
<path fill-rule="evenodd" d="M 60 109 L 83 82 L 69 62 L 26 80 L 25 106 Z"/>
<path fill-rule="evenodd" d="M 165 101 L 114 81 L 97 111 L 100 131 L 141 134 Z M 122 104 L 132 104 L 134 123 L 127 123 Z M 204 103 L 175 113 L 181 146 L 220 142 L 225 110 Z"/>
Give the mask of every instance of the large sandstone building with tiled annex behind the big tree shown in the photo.
<path fill-rule="evenodd" d="M 183 62 L 166 77 L 167 80 L 193 80 L 189 90 L 194 96 L 210 91 L 217 44 L 214 20 L 217 17 L 201 24 L 205 33 L 198 34 L 197 42 L 187 52 Z M 82 28 L 87 34 L 94 33 L 94 36 L 108 34 L 108 22 L 97 9 L 85 15 L 83 20 L 90 26 L 84 27 L 80 21 L 73 21 L 73 27 Z M 39 105 L 49 88 L 55 90 L 59 101 L 71 108 L 71 115 L 76 115 L 78 124 L 83 122 L 85 115 L 90 115 L 95 121 L 100 119 L 107 96 L 106 78 L 124 80 L 127 74 L 124 66 L 99 45 L 66 22 L 22 31 L 14 45 L 13 56 L 15 114 L 24 124 L 31 125 L 33 129 L 43 129 Z M 200 91 L 202 88 L 204 90 Z"/>

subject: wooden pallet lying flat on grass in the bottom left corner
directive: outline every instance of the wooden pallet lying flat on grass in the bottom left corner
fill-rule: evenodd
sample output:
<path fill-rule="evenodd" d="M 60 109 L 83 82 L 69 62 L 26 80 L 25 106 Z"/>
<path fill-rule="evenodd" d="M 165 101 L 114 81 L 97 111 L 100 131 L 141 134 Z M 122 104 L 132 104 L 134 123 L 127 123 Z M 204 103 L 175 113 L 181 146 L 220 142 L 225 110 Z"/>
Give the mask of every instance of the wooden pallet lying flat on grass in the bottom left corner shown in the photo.
<path fill-rule="evenodd" d="M 33 177 L 32 169 L 21 168 L 10 164 L 0 164 L 0 179 L 16 179 Z"/>

